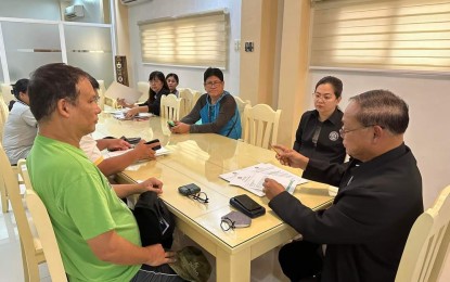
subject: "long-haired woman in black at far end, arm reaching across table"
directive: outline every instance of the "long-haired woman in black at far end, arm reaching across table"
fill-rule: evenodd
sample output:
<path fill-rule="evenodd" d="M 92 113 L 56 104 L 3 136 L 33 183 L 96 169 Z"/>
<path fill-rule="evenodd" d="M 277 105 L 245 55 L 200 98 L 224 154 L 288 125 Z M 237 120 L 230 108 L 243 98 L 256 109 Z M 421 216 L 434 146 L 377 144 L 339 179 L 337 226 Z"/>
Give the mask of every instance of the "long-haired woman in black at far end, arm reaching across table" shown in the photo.
<path fill-rule="evenodd" d="M 162 72 L 152 72 L 149 76 L 149 100 L 139 105 L 131 105 L 125 102 L 125 99 L 118 99 L 117 103 L 124 107 L 130 107 L 126 117 L 133 117 L 139 113 L 152 113 L 159 115 L 160 111 L 160 98 L 170 93 L 169 87 L 167 86 L 166 78 Z"/>

